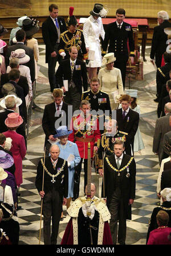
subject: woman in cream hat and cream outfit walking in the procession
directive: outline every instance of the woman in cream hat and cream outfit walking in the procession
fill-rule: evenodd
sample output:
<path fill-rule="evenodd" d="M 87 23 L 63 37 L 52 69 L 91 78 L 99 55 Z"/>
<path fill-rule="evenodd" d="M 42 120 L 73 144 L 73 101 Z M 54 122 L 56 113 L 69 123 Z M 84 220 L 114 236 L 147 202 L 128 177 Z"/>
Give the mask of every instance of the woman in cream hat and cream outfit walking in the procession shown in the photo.
<path fill-rule="evenodd" d="M 98 74 L 101 91 L 109 95 L 112 110 L 117 109 L 119 106 L 117 101 L 120 95 L 124 94 L 121 72 L 119 68 L 113 67 L 115 60 L 116 58 L 113 52 L 105 54 Z"/>

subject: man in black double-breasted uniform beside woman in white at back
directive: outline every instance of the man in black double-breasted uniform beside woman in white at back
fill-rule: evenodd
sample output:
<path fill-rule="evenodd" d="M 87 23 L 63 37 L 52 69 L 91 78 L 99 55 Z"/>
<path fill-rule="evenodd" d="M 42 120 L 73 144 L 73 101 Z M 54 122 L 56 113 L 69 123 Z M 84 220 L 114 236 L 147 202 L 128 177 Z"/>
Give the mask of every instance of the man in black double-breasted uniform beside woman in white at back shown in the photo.
<path fill-rule="evenodd" d="M 104 56 L 107 52 L 114 52 L 116 61 L 114 66 L 119 68 L 122 75 L 123 86 L 125 87 L 125 75 L 127 68 L 128 58 L 131 62 L 134 62 L 134 41 L 133 41 L 133 30 L 132 26 L 124 22 L 125 10 L 116 10 L 116 21 L 110 23 L 105 31 L 105 37 L 103 42 L 102 55 Z M 127 41 L 129 40 L 129 52 L 127 47 Z"/>

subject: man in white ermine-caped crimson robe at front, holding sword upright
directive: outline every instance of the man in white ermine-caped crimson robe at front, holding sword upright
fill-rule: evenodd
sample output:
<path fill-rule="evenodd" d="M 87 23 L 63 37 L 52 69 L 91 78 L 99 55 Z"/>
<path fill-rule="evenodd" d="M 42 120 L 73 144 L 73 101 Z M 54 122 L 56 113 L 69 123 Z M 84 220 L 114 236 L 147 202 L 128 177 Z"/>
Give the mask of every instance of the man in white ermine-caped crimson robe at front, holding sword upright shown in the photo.
<path fill-rule="evenodd" d="M 111 214 L 103 199 L 95 196 L 96 185 L 91 183 L 91 200 L 79 197 L 68 208 L 71 219 L 62 238 L 62 245 L 112 245 L 108 220 Z M 87 194 L 87 186 L 86 186 Z"/>

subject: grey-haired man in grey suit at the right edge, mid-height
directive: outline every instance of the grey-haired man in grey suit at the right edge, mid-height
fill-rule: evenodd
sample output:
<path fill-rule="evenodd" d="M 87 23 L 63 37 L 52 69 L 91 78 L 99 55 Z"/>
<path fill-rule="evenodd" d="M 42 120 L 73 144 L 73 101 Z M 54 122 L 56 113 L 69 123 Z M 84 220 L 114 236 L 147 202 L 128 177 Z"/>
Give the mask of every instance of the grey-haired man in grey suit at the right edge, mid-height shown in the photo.
<path fill-rule="evenodd" d="M 165 116 L 162 116 L 156 120 L 156 127 L 153 136 L 153 152 L 158 155 L 159 164 L 162 159 L 162 147 L 163 138 L 166 132 L 171 131 L 170 119 L 171 119 L 171 103 L 165 104 Z"/>

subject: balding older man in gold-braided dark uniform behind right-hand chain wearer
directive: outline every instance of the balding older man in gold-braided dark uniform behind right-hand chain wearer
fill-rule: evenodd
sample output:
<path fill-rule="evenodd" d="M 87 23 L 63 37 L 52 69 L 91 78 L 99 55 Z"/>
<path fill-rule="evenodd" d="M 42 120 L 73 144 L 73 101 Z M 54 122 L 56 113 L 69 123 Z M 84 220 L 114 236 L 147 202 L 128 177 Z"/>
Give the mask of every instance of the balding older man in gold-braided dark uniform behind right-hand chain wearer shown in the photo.
<path fill-rule="evenodd" d="M 125 132 L 117 131 L 118 125 L 115 119 L 108 120 L 105 123 L 105 132 L 101 135 L 100 148 L 98 150 L 98 172 L 103 177 L 103 153 L 104 157 L 111 156 L 114 153 L 114 143 L 116 140 L 126 140 Z M 103 196 L 103 194 L 102 194 Z"/>

